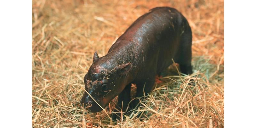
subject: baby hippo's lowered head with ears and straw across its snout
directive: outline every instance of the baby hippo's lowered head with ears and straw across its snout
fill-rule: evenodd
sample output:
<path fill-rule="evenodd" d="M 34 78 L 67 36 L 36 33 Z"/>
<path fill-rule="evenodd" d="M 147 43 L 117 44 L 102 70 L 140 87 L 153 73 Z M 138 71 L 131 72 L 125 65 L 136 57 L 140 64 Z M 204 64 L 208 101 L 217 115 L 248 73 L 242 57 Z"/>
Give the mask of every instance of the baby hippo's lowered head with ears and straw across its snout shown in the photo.
<path fill-rule="evenodd" d="M 85 90 L 92 96 L 98 104 L 105 108 L 123 90 L 126 83 L 125 76 L 131 69 L 131 63 L 116 65 L 108 58 L 99 58 L 97 52 L 94 53 L 93 63 L 87 74 L 84 76 Z M 81 105 L 90 112 L 99 112 L 100 106 L 87 94 L 81 99 Z"/>

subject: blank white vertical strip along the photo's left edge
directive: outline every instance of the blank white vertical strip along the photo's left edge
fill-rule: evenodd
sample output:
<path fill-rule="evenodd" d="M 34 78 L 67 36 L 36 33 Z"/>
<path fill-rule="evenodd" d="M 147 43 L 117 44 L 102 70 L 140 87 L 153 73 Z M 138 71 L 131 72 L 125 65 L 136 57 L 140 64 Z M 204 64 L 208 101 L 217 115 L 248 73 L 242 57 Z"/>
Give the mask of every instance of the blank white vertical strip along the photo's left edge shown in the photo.
<path fill-rule="evenodd" d="M 1 127 L 32 127 L 32 1 L 0 2 Z"/>

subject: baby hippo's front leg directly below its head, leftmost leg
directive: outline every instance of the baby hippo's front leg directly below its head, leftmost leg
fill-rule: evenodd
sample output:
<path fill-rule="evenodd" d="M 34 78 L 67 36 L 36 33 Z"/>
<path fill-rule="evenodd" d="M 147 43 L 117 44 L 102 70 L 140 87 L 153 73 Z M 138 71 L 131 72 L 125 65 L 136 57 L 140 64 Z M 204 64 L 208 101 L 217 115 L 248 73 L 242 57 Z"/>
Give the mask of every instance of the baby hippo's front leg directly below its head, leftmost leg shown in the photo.
<path fill-rule="evenodd" d="M 120 119 L 120 117 L 121 117 L 121 112 L 120 112 L 121 108 L 122 108 L 123 113 L 126 112 L 126 108 L 128 107 L 128 103 L 131 100 L 131 85 L 132 84 L 126 85 L 124 90 L 118 95 L 118 101 L 117 101 L 116 109 L 114 110 L 114 112 L 118 112 L 118 113 L 113 113 L 112 114 L 112 120 Z M 123 103 L 123 106 L 122 106 L 122 103 Z"/>

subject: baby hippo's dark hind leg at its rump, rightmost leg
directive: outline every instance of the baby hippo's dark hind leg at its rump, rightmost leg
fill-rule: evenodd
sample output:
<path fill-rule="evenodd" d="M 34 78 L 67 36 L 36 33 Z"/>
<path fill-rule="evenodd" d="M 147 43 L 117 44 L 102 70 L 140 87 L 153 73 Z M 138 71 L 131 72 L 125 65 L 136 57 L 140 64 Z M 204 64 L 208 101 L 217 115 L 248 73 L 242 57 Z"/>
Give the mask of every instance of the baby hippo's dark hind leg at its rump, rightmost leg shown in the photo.
<path fill-rule="evenodd" d="M 185 28 L 184 33 L 181 35 L 180 39 L 180 50 L 178 52 L 178 61 L 180 65 L 180 71 L 184 74 L 192 74 L 192 66 L 191 66 L 191 59 L 192 59 L 192 32 L 191 28 L 187 23 L 187 28 Z"/>

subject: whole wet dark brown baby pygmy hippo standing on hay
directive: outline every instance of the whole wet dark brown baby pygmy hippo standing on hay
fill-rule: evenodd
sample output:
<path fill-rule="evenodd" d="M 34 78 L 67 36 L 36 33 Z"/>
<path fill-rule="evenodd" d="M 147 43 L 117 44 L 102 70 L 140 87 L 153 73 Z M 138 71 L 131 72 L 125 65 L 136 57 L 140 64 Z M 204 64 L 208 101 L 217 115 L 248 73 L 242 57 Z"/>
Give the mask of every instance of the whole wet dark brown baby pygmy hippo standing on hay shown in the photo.
<path fill-rule="evenodd" d="M 120 109 L 123 101 L 125 111 L 131 100 L 131 84 L 137 86 L 136 97 L 150 93 L 156 75 L 168 68 L 172 59 L 179 63 L 182 73 L 192 73 L 191 42 L 191 28 L 180 12 L 169 7 L 153 8 L 132 23 L 107 55 L 94 53 L 84 76 L 85 89 L 103 108 L 118 95 L 116 108 Z M 129 108 L 138 103 L 132 100 Z M 86 92 L 81 104 L 91 112 L 102 110 Z"/>

